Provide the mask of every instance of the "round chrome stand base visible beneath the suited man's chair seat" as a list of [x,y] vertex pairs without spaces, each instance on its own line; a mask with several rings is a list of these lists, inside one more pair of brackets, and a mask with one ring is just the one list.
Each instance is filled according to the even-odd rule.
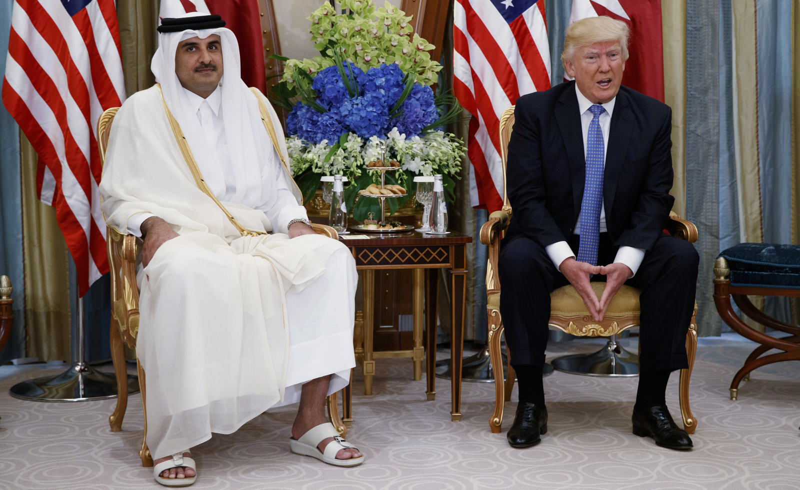
[[605,347],[592,354],[573,354],[550,361],[558,371],[583,376],[624,377],[639,375],[639,357],[622,349],[610,338]]

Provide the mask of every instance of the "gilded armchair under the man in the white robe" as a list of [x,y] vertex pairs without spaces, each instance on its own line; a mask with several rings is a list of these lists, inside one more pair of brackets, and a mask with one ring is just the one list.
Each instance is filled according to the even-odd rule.
[[[111,123],[119,110],[112,107],[103,112],[98,120],[98,149],[100,160],[105,161]],[[336,230],[327,225],[312,223],[314,231],[326,237],[338,240]],[[122,430],[122,419],[128,405],[127,373],[125,365],[124,345],[131,349],[136,348],[136,337],[139,330],[139,291],[136,286],[136,257],[142,252],[142,240],[133,235],[122,233],[117,229],[106,227],[106,248],[111,270],[111,359],[114,362],[114,372],[117,377],[119,396],[114,413],[108,417],[111,432]],[[124,345],[123,345],[124,343]],[[150,449],[147,448],[147,404],[145,397],[145,371],[136,360],[138,370],[139,389],[142,392],[142,407],[145,412],[144,436],[139,457],[142,466],[153,466]],[[341,434],[346,433],[336,405],[336,394],[328,397],[328,411],[331,421]]]

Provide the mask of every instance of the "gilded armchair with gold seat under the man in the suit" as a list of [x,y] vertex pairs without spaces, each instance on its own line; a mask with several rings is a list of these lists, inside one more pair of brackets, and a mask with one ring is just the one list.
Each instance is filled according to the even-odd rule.
[[[494,413],[489,418],[492,432],[500,432],[502,426],[503,403],[510,400],[511,389],[514,387],[514,368],[508,365],[508,376],[502,379],[503,365],[500,352],[500,337],[503,333],[502,318],[500,316],[500,278],[498,277],[498,256],[500,241],[506,233],[511,217],[511,205],[506,193],[506,157],[508,156],[508,143],[514,126],[514,106],[506,109],[500,119],[500,156],[503,170],[503,206],[502,210],[491,213],[489,221],[481,227],[480,240],[488,245],[489,263],[486,266],[486,310],[489,317],[488,344],[492,369],[495,372]],[[670,213],[668,231],[674,237],[694,242],[697,241],[697,228],[690,221],[682,220],[674,213]],[[602,295],[606,287],[605,282],[593,282],[594,293]],[[561,330],[580,337],[610,337],[623,331],[639,326],[639,294],[638,289],[623,285],[611,301],[606,317],[603,321],[595,322],[590,313],[586,311],[582,298],[572,285],[566,285],[550,293],[550,329]],[[689,357],[689,368],[682,369],[680,375],[679,399],[683,428],[693,434],[697,419],[692,416],[689,407],[689,380],[694,365],[694,354],[697,351],[697,326],[695,315],[697,304],[694,305],[689,331],[686,333],[686,354]],[[644,325],[642,328],[647,328]],[[507,347],[507,346],[506,346]],[[513,355],[508,352],[508,358]]]

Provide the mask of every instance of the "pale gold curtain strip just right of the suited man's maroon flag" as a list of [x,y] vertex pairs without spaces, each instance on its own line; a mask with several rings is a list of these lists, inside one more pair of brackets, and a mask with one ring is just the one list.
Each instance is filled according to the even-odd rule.
[[686,217],[686,3],[661,2],[664,102],[672,108],[673,211]]

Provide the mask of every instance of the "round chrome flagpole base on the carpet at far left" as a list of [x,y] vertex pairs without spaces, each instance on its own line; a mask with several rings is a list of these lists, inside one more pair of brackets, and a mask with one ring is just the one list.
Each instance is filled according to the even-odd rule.
[[[139,391],[138,377],[128,375],[128,392]],[[10,395],[31,401],[86,401],[116,398],[117,378],[78,362],[57,376],[14,384]]]

